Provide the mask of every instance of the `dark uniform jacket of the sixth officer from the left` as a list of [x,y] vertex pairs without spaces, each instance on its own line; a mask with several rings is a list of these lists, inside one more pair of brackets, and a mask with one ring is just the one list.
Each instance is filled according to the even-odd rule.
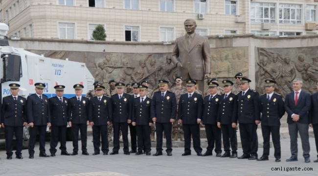
[[131,118],[133,106],[133,97],[127,93],[123,93],[121,99],[118,94],[112,96],[113,107],[113,122],[127,123],[127,120]]

